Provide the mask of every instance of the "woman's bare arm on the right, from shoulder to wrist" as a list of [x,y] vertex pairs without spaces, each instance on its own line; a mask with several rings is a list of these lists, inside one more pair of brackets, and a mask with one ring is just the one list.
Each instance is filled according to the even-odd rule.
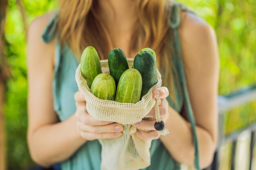
[[[187,87],[197,124],[200,166],[205,168],[213,159],[218,133],[219,66],[216,36],[204,21],[187,13],[180,28],[180,38]],[[186,118],[186,109],[184,111],[182,114]],[[166,127],[170,134],[160,139],[177,161],[193,167],[195,150],[190,123],[171,107],[168,113]]]

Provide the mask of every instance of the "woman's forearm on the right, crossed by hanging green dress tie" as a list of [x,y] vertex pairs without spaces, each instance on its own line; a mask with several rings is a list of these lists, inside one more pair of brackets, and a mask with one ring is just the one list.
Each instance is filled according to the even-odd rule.
[[[168,111],[169,117],[166,120],[166,128],[168,128],[170,133],[166,136],[161,136],[160,139],[174,159],[194,167],[195,148],[191,124],[175,110],[169,109]],[[205,168],[212,161],[215,144],[207,130],[197,126],[196,131],[198,135],[200,166]]]

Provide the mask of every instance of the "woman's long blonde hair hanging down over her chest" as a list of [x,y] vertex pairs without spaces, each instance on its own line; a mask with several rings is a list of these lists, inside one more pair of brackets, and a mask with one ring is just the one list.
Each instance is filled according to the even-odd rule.
[[[130,51],[150,47],[157,54],[157,67],[163,75],[163,85],[173,94],[173,62],[171,58],[170,0],[135,0],[139,18],[133,30]],[[60,0],[58,28],[61,43],[81,56],[86,46],[94,46],[101,60],[114,48],[108,29],[97,14],[97,0]],[[171,95],[173,99],[174,96]]]

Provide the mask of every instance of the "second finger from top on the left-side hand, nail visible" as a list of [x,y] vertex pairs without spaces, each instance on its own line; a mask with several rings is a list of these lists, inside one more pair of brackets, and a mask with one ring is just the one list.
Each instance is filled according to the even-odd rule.
[[77,122],[77,128],[83,132],[92,132],[92,133],[113,133],[121,132],[124,127],[121,124],[113,123],[103,126],[88,126],[82,124],[80,121]]

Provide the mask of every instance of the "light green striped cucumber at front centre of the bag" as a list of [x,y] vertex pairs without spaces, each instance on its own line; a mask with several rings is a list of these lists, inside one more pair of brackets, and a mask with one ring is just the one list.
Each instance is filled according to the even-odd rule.
[[135,68],[129,68],[120,77],[115,101],[121,103],[139,102],[142,78]]

